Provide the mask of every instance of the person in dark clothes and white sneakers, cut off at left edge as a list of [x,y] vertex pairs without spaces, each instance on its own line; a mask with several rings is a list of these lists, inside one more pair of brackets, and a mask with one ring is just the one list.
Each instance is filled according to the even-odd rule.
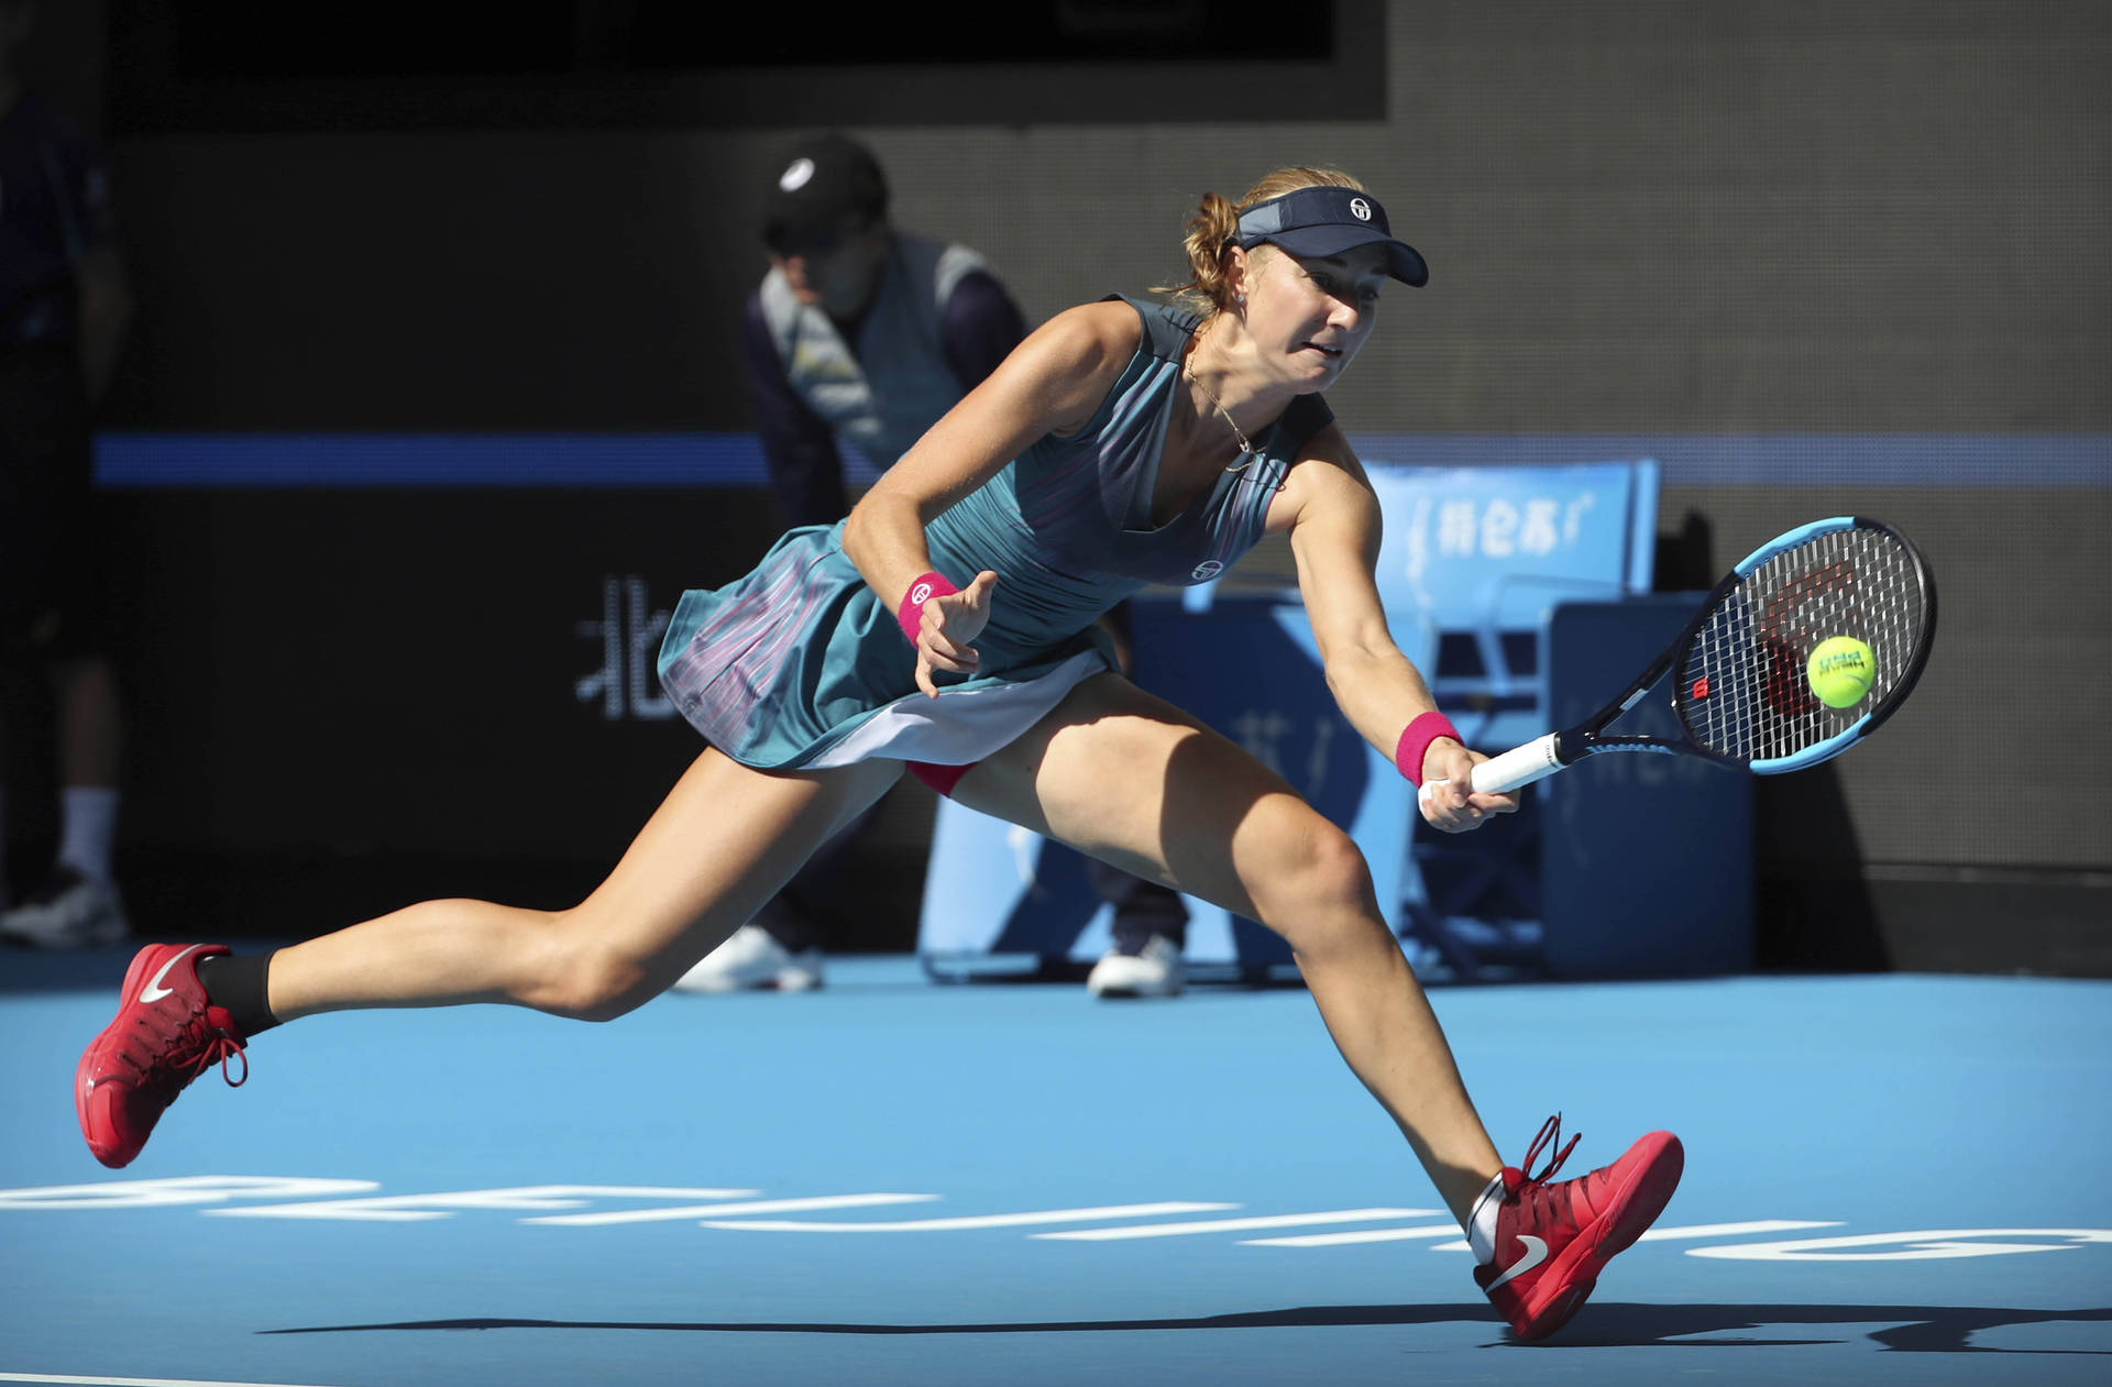
[[36,948],[129,933],[112,872],[122,703],[110,661],[95,403],[131,289],[101,152],[25,91],[15,55],[36,21],[0,0],[0,906],[6,906],[8,730],[53,709],[59,849],[0,910],[0,939]]

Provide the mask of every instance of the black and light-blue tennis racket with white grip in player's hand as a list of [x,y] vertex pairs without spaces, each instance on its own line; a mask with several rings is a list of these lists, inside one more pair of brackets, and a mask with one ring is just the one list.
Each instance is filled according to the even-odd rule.
[[[1816,766],[1899,711],[1935,633],[1937,585],[1905,534],[1854,515],[1802,526],[1728,572],[1624,695],[1476,764],[1474,790],[1502,794],[1607,752],[1700,756],[1753,775]],[[1852,635],[1875,657],[1869,692],[1850,707],[1827,707],[1806,682],[1812,648],[1831,635]],[[1609,733],[1666,671],[1679,735]]]

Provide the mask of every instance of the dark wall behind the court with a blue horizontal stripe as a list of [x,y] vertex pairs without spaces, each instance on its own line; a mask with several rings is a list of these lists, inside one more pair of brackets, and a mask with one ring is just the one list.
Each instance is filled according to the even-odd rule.
[[[739,433],[756,211],[817,125],[1031,319],[1176,274],[1204,190],[1347,167],[1434,268],[1331,395],[1383,460],[1658,456],[1675,585],[1840,511],[1928,547],[1916,701],[1761,792],[1768,956],[2000,967],[2040,920],[2015,965],[2112,967],[2112,6],[1337,0],[1286,51],[1282,11],[1052,4],[1031,46],[934,49],[934,15],[737,57],[644,0],[300,6],[321,44],[44,8],[137,279],[114,433]],[[118,494],[135,910],[291,933],[591,880],[693,749],[650,690],[581,695],[604,587],[650,616],[724,581],[767,496],[294,481]],[[902,792],[853,933],[910,927],[927,821]]]

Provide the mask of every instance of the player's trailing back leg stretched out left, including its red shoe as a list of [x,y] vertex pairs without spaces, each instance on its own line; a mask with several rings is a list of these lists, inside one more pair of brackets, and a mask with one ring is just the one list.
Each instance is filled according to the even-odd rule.
[[[623,1015],[733,933],[900,775],[900,762],[767,775],[705,752],[579,906],[425,901],[279,950],[264,980],[264,1022],[458,1003]],[[177,1094],[241,1053],[247,1037],[232,1003],[199,977],[199,963],[222,954],[224,946],[150,944],[125,973],[118,1013],[74,1077],[80,1132],[103,1165],[131,1163]]]

